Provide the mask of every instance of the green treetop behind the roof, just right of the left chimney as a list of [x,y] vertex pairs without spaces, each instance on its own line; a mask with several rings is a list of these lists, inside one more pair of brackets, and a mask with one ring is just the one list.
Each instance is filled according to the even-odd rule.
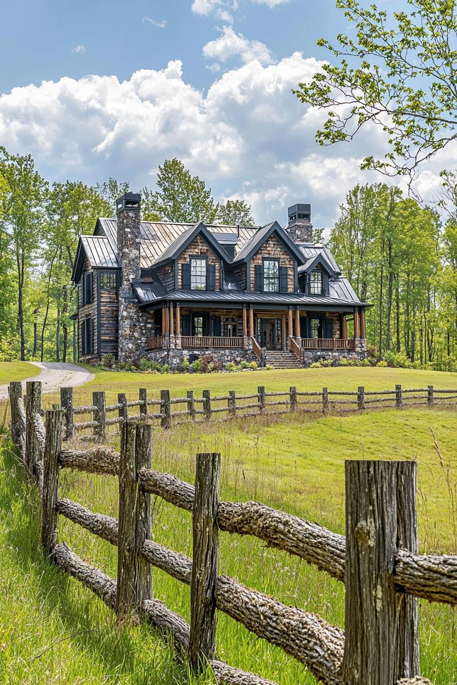
[[149,211],[165,221],[214,223],[218,206],[211,197],[211,189],[198,176],[191,176],[180,160],[165,160],[159,166],[157,186],[159,190],[153,194]]

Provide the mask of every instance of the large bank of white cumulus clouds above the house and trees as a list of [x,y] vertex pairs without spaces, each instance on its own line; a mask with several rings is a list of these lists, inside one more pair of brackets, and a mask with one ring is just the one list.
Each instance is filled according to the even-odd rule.
[[[112,176],[132,189],[153,188],[158,165],[176,156],[216,199],[251,203],[259,223],[284,225],[288,205],[311,202],[314,225],[329,226],[351,186],[379,180],[358,166],[368,150],[384,149],[373,131],[316,146],[323,115],[291,88],[319,66],[300,53],[277,64],[254,60],[218,75],[206,93],[184,79],[180,60],[125,81],[94,75],[13,88],[0,97],[0,145],[32,153],[51,181]],[[437,176],[441,168],[429,171]],[[432,175],[426,184],[432,187]]]

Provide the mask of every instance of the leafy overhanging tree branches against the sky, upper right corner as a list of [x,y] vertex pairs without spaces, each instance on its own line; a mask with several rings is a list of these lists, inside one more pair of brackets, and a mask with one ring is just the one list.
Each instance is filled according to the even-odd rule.
[[362,169],[414,177],[419,164],[457,138],[456,0],[408,0],[410,12],[337,0],[351,27],[336,46],[321,38],[336,64],[323,64],[295,91],[327,111],[319,145],[352,140],[366,125],[387,134],[388,151],[367,155]]

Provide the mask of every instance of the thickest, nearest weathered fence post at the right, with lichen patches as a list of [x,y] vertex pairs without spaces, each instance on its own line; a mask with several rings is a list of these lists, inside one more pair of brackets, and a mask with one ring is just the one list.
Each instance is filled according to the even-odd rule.
[[397,548],[417,551],[415,469],[415,462],[345,464],[343,685],[392,685],[419,673],[417,611],[393,579]]

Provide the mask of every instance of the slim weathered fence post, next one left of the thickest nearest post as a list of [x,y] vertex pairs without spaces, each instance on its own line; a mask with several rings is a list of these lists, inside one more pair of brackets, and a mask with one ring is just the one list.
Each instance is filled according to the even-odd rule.
[[193,564],[190,579],[190,667],[198,671],[216,649],[216,601],[219,573],[219,453],[197,454],[195,497],[192,511]]

